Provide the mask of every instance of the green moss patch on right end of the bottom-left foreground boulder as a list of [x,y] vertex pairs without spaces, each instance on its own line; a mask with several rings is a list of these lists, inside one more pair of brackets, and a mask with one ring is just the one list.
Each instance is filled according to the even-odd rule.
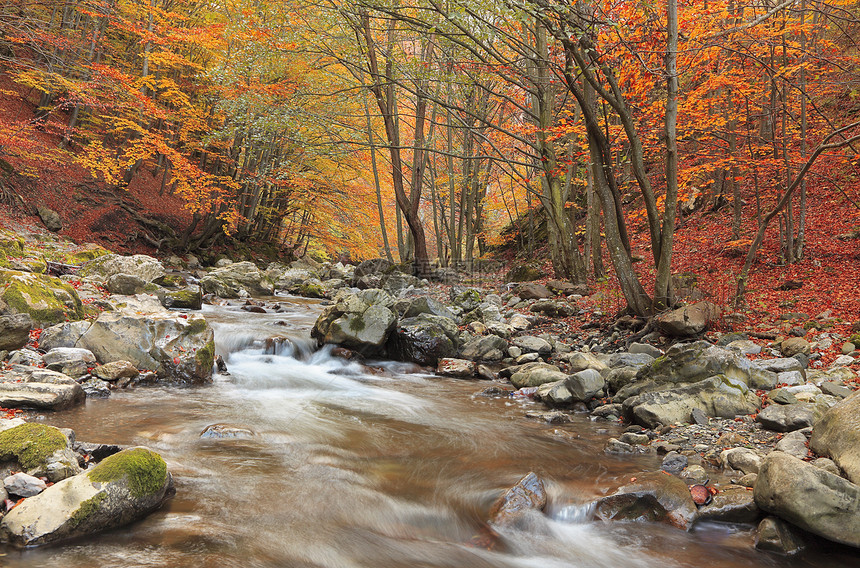
[[102,460],[87,473],[91,481],[108,483],[125,478],[134,497],[157,493],[167,481],[167,464],[155,452],[132,448]]

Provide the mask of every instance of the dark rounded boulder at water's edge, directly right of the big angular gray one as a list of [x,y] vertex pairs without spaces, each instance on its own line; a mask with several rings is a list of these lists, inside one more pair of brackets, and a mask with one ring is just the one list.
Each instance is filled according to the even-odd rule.
[[388,338],[386,351],[399,361],[435,366],[439,359],[457,354],[458,333],[451,319],[425,313],[401,320]]

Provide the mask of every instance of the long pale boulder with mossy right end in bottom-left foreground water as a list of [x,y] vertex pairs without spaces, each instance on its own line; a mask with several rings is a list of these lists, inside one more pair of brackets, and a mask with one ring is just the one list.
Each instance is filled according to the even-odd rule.
[[0,522],[0,539],[35,546],[121,527],[145,517],[172,493],[161,456],[143,447],[123,450],[12,509]]

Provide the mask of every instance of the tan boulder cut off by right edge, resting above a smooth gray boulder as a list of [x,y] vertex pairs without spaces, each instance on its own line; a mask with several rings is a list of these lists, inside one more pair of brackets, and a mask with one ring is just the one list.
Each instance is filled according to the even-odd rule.
[[860,485],[860,391],[830,408],[812,429],[812,450],[829,456]]

